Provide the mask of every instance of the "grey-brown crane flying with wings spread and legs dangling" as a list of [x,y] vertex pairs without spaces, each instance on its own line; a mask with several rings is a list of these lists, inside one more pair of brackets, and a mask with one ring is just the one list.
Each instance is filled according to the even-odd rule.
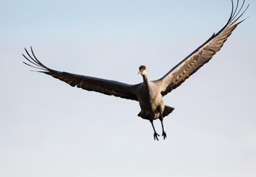
[[249,6],[248,4],[243,10],[244,1],[239,8],[239,0],[237,0],[236,7],[232,1],[232,11],[227,24],[225,24],[220,31],[214,33],[211,38],[207,39],[205,43],[196,48],[194,52],[180,61],[179,64],[174,66],[159,80],[150,81],[148,79],[148,69],[146,66],[140,66],[138,74],[141,74],[143,82],[136,85],[57,71],[42,64],[42,62],[36,58],[32,47],[31,53],[25,48],[27,55],[22,55],[28,62],[23,63],[35,67],[36,69],[40,69],[38,71],[40,73],[45,73],[61,81],[65,81],[72,87],[83,88],[84,90],[99,92],[108,96],[116,96],[138,101],[141,108],[138,116],[150,121],[154,130],[154,139],[158,141],[159,134],[156,132],[153,121],[156,119],[161,121],[162,136],[163,139],[165,139],[166,132],[164,131],[163,118],[168,116],[174,110],[174,108],[164,105],[163,97],[173,89],[179,87],[179,85],[188,79],[189,76],[195,73],[200,67],[204,66],[205,63],[209,62],[212,56],[221,49],[232,31],[236,29],[237,25],[245,20],[237,22]]

